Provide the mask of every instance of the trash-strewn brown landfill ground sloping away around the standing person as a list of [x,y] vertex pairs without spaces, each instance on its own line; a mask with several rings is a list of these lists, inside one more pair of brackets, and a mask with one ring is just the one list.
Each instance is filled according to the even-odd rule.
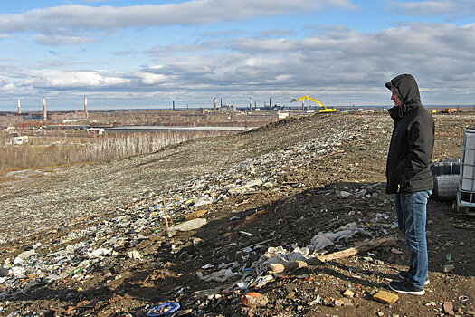
[[[475,116],[434,119],[434,160],[460,158]],[[385,113],[314,115],[132,159],[10,172],[0,315],[171,316],[150,312],[163,303],[179,303],[176,316],[475,315],[473,218],[434,197],[423,296],[375,300],[408,263],[402,240],[269,269],[400,237],[384,193],[391,130]]]

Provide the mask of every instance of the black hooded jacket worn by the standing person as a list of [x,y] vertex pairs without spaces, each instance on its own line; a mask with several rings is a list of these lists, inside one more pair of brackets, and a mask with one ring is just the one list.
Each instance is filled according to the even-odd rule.
[[423,107],[419,87],[412,75],[404,74],[386,82],[397,92],[401,106],[388,112],[394,129],[386,164],[386,193],[413,193],[433,188],[431,174],[434,122]]

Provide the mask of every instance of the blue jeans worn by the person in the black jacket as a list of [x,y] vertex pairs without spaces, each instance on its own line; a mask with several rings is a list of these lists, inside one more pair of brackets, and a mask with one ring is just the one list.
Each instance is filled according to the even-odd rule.
[[423,289],[428,274],[425,223],[427,200],[431,194],[432,190],[394,194],[397,225],[405,236],[411,255],[408,282],[419,289]]

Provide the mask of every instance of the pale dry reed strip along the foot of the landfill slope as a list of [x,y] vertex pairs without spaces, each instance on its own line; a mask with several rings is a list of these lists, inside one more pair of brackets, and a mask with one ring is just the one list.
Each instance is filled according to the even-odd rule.
[[[213,133],[218,134],[222,133]],[[194,131],[112,134],[98,138],[30,137],[30,143],[22,146],[0,146],[0,170],[11,172],[24,168],[51,169],[72,164],[124,159],[206,136],[210,134]]]

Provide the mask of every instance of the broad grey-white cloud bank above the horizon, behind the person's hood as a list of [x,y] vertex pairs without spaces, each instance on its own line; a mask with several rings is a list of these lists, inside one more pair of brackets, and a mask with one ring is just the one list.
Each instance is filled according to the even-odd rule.
[[423,90],[424,103],[450,104],[455,99],[472,104],[474,38],[475,24],[404,24],[375,33],[338,26],[301,39],[241,37],[215,43],[199,54],[190,54],[186,45],[164,46],[168,54],[155,47],[148,52],[157,58],[155,64],[128,73],[55,71],[52,65],[42,72],[2,70],[0,76],[15,73],[16,81],[28,78],[15,82],[22,89],[85,95],[104,91],[105,99],[140,95],[207,102],[223,95],[288,102],[310,94],[325,104],[390,105],[384,83],[409,72]]

